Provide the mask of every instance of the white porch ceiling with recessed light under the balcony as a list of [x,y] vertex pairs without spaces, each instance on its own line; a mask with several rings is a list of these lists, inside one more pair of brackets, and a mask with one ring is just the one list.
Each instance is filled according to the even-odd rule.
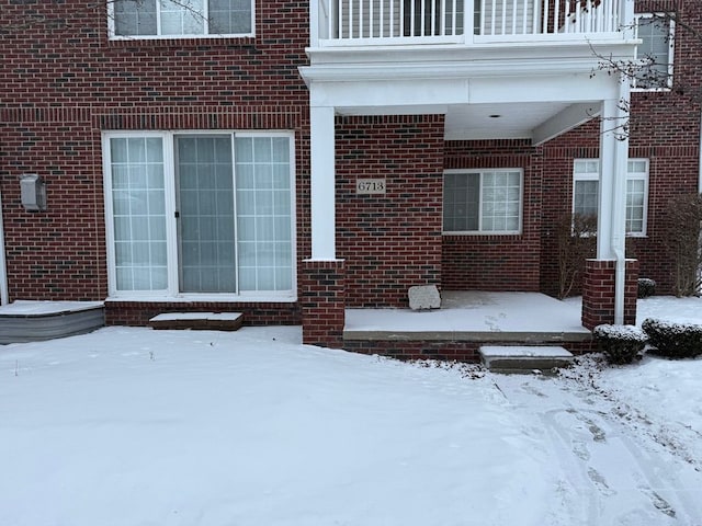
[[[519,88],[517,88],[519,89]],[[446,140],[523,138],[541,144],[599,113],[596,102],[514,102],[448,106]]]

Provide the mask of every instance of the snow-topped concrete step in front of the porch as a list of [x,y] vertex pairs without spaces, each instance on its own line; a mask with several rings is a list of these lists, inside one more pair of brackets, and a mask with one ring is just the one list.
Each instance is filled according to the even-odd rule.
[[531,373],[566,367],[573,354],[555,345],[484,345],[478,350],[480,361],[494,373]]

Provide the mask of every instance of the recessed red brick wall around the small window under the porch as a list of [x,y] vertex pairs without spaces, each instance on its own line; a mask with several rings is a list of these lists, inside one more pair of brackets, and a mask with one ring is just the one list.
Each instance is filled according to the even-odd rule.
[[444,236],[442,286],[450,290],[539,290],[542,153],[528,140],[446,142],[445,169],[523,171],[522,232]]

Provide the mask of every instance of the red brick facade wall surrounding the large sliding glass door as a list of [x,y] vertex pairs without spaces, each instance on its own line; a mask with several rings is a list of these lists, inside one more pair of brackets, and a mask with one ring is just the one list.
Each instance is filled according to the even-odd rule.
[[[0,191],[10,299],[106,296],[103,130],[294,130],[297,247],[308,252],[308,92],[297,68],[307,64],[309,5],[256,3],[254,37],[109,41],[103,2],[0,0],[7,30]],[[44,213],[20,205],[18,176],[25,172],[46,180]],[[271,316],[299,320],[286,309]],[[148,312],[133,306],[111,319],[143,321]]]

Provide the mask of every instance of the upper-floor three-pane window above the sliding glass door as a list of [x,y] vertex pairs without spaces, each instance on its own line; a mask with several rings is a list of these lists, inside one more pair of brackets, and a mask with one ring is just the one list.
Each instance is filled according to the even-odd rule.
[[116,38],[252,34],[251,0],[114,0],[107,5]]

